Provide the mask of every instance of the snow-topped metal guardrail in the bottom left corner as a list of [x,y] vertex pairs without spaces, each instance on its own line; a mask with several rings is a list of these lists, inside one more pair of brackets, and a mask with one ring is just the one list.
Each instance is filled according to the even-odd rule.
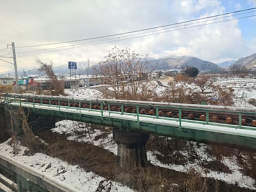
[[80,190],[0,154],[0,191],[79,192]]

